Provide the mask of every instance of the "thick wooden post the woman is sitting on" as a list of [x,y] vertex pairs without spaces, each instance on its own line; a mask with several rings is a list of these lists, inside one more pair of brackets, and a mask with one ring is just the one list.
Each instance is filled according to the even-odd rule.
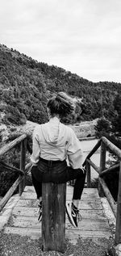
[[42,250],[65,252],[66,184],[42,184]]

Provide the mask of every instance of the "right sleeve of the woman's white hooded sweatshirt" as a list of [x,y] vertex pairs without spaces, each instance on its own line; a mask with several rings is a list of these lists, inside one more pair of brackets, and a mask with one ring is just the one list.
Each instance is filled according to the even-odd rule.
[[77,136],[75,132],[73,132],[73,129],[70,129],[69,133],[67,155],[69,159],[69,165],[73,169],[82,168],[83,152],[81,149],[81,142],[77,139]]

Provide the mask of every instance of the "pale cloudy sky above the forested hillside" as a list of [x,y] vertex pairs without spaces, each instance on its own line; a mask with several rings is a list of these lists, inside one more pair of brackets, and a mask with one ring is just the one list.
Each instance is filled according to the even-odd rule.
[[120,0],[0,0],[0,44],[92,82],[121,82]]

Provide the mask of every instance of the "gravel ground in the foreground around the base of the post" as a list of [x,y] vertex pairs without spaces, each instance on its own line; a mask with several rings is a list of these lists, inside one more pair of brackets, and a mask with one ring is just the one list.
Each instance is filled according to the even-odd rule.
[[[66,241],[65,253],[55,251],[43,252],[41,240],[31,240],[14,234],[0,233],[0,256],[115,256],[115,246],[112,239],[97,238],[81,239],[73,246]],[[103,245],[103,246],[102,246]]]

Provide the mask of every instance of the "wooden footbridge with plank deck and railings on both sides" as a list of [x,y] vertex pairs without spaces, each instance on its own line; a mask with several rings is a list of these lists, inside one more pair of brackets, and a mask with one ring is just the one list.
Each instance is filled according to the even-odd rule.
[[[6,195],[0,202],[0,227],[4,233],[15,233],[19,235],[27,235],[31,238],[39,238],[41,236],[41,224],[38,222],[38,202],[33,187],[24,186],[25,178],[28,173],[28,168],[31,164],[26,165],[26,151],[27,149],[31,153],[31,149],[27,144],[27,136],[22,135],[15,141],[10,142],[0,149],[0,157],[7,153],[10,149],[13,149],[16,145],[21,145],[21,157],[20,157],[20,168],[17,169],[14,166],[0,162],[0,170],[13,170],[19,172],[19,178],[15,181],[10,190],[7,191]],[[90,157],[95,151],[101,147],[100,150],[100,166],[95,166],[91,162]],[[101,197],[105,195],[109,204],[111,205],[112,211],[116,218],[115,226],[115,244],[121,243],[121,167],[119,175],[119,195],[118,202],[115,204],[112,198],[111,192],[106,183],[104,182],[103,176],[111,173],[115,170],[115,166],[111,166],[106,169],[106,149],[111,149],[121,159],[121,151],[105,137],[102,137],[90,154],[86,157],[84,166],[87,170],[87,187],[84,188],[81,202],[79,204],[82,220],[79,222],[77,228],[69,223],[66,217],[65,221],[65,237],[69,238],[69,241],[76,243],[77,238],[82,237],[106,237],[107,239],[112,236],[108,220],[106,219],[104,209],[102,207]],[[98,172],[98,189],[91,188],[91,174],[90,166],[93,166],[94,170]],[[116,165],[117,166],[117,165]],[[118,164],[120,166],[120,164]],[[19,197],[15,198],[14,207],[10,206],[11,195],[13,195],[16,188],[19,187]],[[71,201],[73,195],[73,187],[67,185],[66,200]],[[12,211],[10,210],[12,208]],[[10,212],[9,221],[3,226],[4,221],[7,219],[7,212]]]

